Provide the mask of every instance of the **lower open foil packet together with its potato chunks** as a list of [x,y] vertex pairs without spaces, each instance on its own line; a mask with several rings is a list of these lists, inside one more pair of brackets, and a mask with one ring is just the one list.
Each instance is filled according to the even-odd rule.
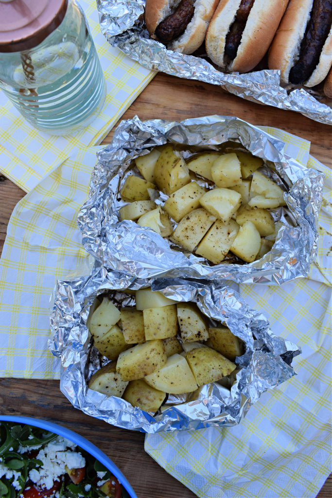
[[98,261],[89,275],[58,280],[50,323],[70,402],[147,433],[238,424],[263,392],[295,375],[301,353],[230,287],[133,279]]

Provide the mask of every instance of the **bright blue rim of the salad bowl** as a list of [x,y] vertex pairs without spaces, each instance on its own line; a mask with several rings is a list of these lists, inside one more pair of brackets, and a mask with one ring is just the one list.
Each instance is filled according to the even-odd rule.
[[70,429],[66,429],[66,427],[62,427],[61,425],[53,424],[52,422],[48,422],[47,420],[40,420],[38,418],[30,418],[30,417],[19,417],[14,415],[0,415],[0,421],[4,422],[14,422],[17,424],[28,424],[33,425],[34,427],[39,427],[41,429],[46,429],[47,431],[54,432],[58,434],[58,436],[62,436],[66,439],[69,439],[77,446],[87,451],[95,457],[101,464],[103,464],[112,474],[116,477],[116,479],[121,483],[123,488],[129,493],[130,498],[137,498],[136,493],[122,474],[122,472],[116,467],[116,465],[111,461],[109,457],[105,455],[97,446],[90,443],[87,439],[76,434],[76,432],[71,431]]

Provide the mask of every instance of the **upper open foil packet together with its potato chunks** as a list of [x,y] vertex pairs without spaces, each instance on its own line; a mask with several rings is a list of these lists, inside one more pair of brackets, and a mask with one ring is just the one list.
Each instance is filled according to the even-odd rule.
[[78,223],[106,268],[268,284],[308,275],[324,175],[262,129],[225,116],[135,117],[97,156]]

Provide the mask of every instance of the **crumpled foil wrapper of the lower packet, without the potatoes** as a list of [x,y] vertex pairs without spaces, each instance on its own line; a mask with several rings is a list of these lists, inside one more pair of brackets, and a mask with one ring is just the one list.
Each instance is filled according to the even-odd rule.
[[[169,395],[156,414],[87,387],[91,375],[109,362],[93,346],[87,327],[96,297],[107,293],[115,305],[131,306],[134,296],[123,291],[150,286],[175,301],[197,303],[211,324],[222,322],[245,345],[233,373],[192,393]],[[147,433],[238,424],[261,393],[295,375],[291,363],[301,353],[275,336],[266,318],[229,287],[181,279],[135,280],[108,272],[98,261],[90,275],[57,281],[50,323],[48,346],[61,359],[60,389],[70,402],[112,425]]]

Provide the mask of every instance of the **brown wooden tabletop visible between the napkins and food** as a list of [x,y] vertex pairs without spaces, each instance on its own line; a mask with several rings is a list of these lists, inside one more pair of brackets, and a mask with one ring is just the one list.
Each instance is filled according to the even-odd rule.
[[[302,136],[311,141],[311,154],[332,167],[330,126],[297,113],[244,101],[201,82],[158,74],[122,119],[137,115],[141,120],[180,121],[213,114],[237,116],[251,124],[275,126]],[[111,137],[112,131],[104,143],[109,143]],[[10,214],[24,192],[4,177],[0,182],[1,250]],[[76,410],[60,392],[56,380],[0,379],[0,414],[38,416],[86,436],[114,461],[139,498],[196,496],[144,452],[144,434],[112,427]],[[330,498],[331,485],[330,476],[318,497]]]

